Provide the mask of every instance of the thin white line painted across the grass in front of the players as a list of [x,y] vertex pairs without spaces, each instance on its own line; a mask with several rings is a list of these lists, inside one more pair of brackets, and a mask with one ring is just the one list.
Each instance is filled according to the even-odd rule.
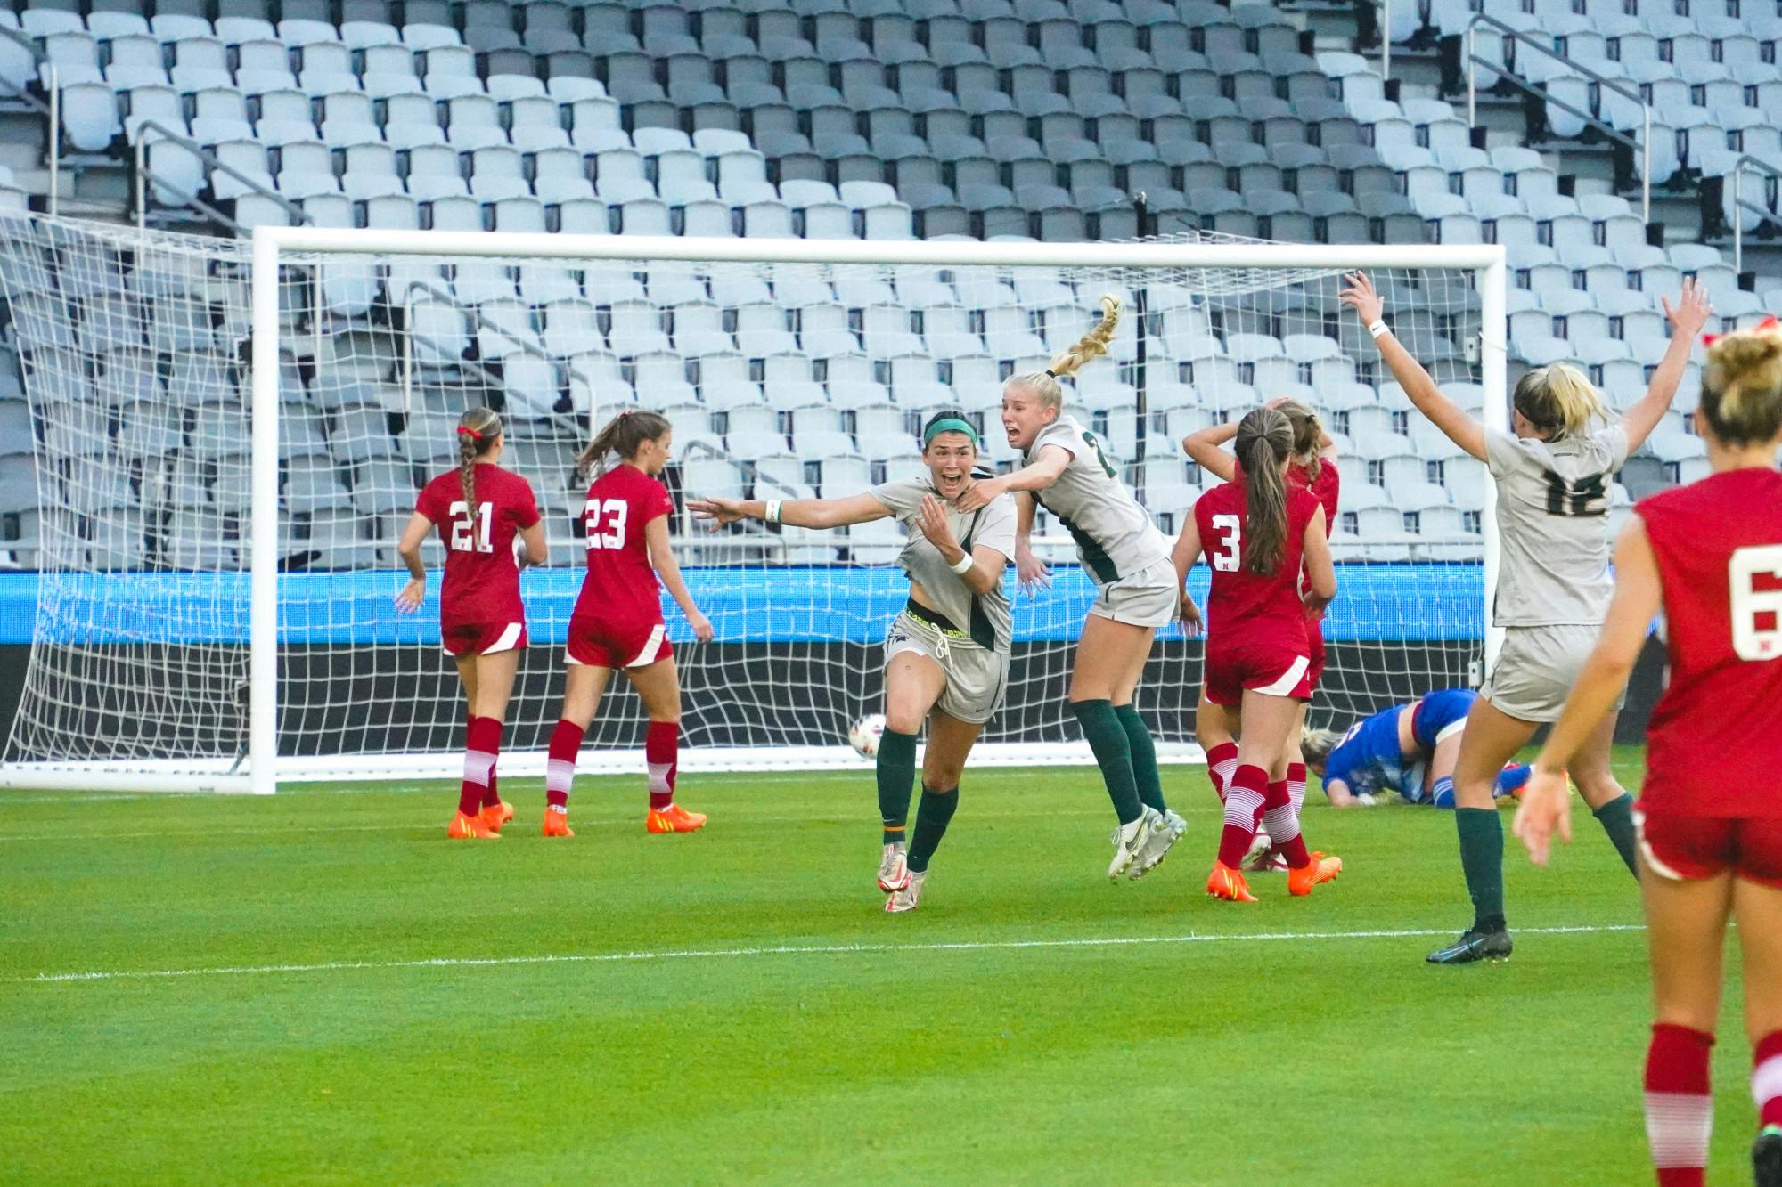
[[[1598,923],[1579,927],[1524,927],[1520,936],[1591,936],[1641,932],[1643,923]],[[670,948],[661,952],[563,952],[511,957],[433,957],[428,961],[326,961],[319,964],[237,964],[217,968],[93,970],[73,973],[37,973],[14,977],[7,984],[46,986],[91,980],[169,980],[180,977],[266,977],[289,973],[344,973],[355,970],[408,968],[510,968],[522,964],[643,964],[658,961],[723,961],[772,955],[859,955],[884,952],[1009,952],[1028,948],[1135,948],[1149,945],[1244,945],[1315,939],[1418,939],[1452,936],[1452,929],[1401,929],[1363,932],[1238,932],[1189,936],[1112,936],[1091,939],[968,939],[957,943],[859,943],[859,945],[775,945],[763,948]]]

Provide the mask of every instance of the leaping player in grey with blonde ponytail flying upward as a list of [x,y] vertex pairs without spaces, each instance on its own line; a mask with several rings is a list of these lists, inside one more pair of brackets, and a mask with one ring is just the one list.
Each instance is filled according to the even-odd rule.
[[1076,542],[1076,558],[1096,583],[1083,633],[1076,640],[1071,711],[1096,756],[1119,827],[1108,877],[1144,877],[1155,870],[1187,823],[1164,804],[1157,745],[1133,706],[1144,661],[1158,627],[1176,617],[1176,574],[1169,544],[1119,479],[1094,433],[1064,415],[1059,380],[1105,355],[1119,324],[1119,299],[1101,298],[1101,321],[1044,371],[1003,385],[1003,430],[1021,451],[1021,469],[977,483],[960,510],[989,506],[1016,494],[1016,570],[1023,585],[1044,585],[1046,567],[1028,540],[1034,508],[1057,515]]

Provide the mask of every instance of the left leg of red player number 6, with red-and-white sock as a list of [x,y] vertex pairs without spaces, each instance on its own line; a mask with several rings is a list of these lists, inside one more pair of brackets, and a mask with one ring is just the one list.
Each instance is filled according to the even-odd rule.
[[[1689,1171],[1707,1166],[1714,1119],[1709,1052],[1720,1014],[1732,873],[1679,880],[1648,868],[1639,875],[1639,889],[1655,1005],[1645,1069],[1647,1137],[1657,1167],[1670,1169],[1672,1178],[1691,1178]],[[1743,932],[1741,925],[1741,939]]]

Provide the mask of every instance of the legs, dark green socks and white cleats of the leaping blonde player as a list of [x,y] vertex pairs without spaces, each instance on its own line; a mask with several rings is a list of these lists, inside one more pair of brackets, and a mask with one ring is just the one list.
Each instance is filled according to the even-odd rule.
[[[1071,711],[1083,727],[1083,740],[1096,756],[1101,781],[1119,827],[1114,829],[1114,861],[1108,879],[1124,875],[1155,832],[1164,823],[1164,793],[1157,779],[1155,750],[1146,759],[1133,754],[1133,738],[1144,731],[1142,722],[1133,731],[1128,720],[1135,716],[1132,695],[1139,674],[1151,654],[1151,627],[1116,622],[1101,615],[1083,620],[1083,634],[1076,642],[1076,667],[1071,674]],[[1121,709],[1116,709],[1121,706]],[[1135,761],[1137,759],[1137,761]],[[1140,770],[1149,770],[1140,779]],[[1148,802],[1155,800],[1155,802]],[[1180,820],[1180,818],[1178,818]]]

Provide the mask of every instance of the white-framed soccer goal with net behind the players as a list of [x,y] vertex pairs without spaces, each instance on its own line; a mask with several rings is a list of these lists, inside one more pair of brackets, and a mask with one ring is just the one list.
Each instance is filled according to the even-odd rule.
[[[1114,356],[1083,369],[1067,412],[1165,533],[1212,481],[1181,453],[1187,431],[1296,396],[1336,435],[1342,594],[1315,720],[1474,683],[1492,488],[1411,415],[1338,308],[1356,267],[1445,389],[1502,422],[1492,246],[326,228],[258,228],[249,244],[9,217],[0,285],[39,506],[0,540],[27,570],[0,572],[0,590],[34,599],[0,782],[273,791],[453,774],[462,693],[437,602],[392,604],[394,545],[472,405],[501,412],[506,465],[547,519],[551,563],[522,576],[531,649],[503,752],[504,774],[542,772],[583,574],[574,456],[593,426],[627,406],[666,413],[677,504],[916,474],[916,428],[950,406],[1007,467],[1003,380],[1087,330],[1101,292],[1124,307]],[[845,736],[880,704],[880,642],[905,597],[896,524],[711,535],[683,512],[674,531],[716,627],[693,643],[670,608],[684,766],[859,763]],[[1055,581],[1016,599],[1009,702],[973,761],[1087,759],[1066,692],[1092,586],[1044,515],[1037,535]],[[437,599],[437,545],[428,560]],[[1205,567],[1196,581],[1205,594]],[[1146,672],[1139,704],[1167,757],[1199,754],[1199,656],[1171,629]],[[617,686],[588,747],[620,756],[642,724]]]

